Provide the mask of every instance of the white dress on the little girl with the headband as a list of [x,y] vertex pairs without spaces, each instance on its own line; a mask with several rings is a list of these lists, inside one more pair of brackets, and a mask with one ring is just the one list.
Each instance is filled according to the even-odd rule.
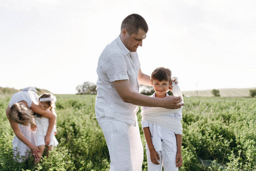
[[[48,111],[50,111],[50,109],[48,109]],[[54,113],[55,116],[56,113]],[[36,143],[37,145],[45,145],[45,141],[44,141],[44,137],[46,136],[47,130],[48,130],[48,126],[49,126],[49,119],[47,117],[40,117],[38,115],[35,115],[35,124],[37,127],[36,130]],[[54,131],[56,130],[55,125],[54,125],[54,129],[52,129],[51,132],[51,140],[50,140],[50,144],[48,146],[54,147],[57,146],[59,143],[56,139],[56,137],[54,136]]]

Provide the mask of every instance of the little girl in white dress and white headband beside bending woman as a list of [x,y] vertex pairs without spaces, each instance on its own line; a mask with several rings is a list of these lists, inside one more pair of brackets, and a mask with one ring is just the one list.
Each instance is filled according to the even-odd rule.
[[[43,93],[39,97],[39,106],[47,111],[51,111],[54,113],[55,117],[57,116],[55,113],[55,101],[56,97],[52,95],[51,93]],[[42,158],[42,154],[44,152],[44,149],[46,149],[46,156],[48,157],[48,150],[52,150],[52,146],[57,146],[59,143],[55,138],[56,135],[56,120],[54,124],[54,129],[51,131],[50,137],[47,137],[47,130],[49,129],[49,123],[50,120],[47,117],[43,117],[38,115],[37,113],[34,113],[35,116],[35,123],[36,123],[36,143],[39,148],[39,160],[36,161],[39,162]],[[50,143],[46,144],[46,139],[50,138]]]

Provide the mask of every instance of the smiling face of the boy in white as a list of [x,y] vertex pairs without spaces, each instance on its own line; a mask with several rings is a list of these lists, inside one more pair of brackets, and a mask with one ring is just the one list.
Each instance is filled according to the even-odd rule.
[[156,92],[156,97],[163,98],[166,96],[166,92],[169,90],[170,82],[168,80],[151,80],[151,84]]

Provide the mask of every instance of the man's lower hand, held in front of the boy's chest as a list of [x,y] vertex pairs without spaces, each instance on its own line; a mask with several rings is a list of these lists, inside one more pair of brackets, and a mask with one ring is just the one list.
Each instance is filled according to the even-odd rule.
[[166,96],[163,98],[164,100],[164,108],[167,109],[178,109],[181,108],[184,103],[181,103],[181,97],[174,97],[174,96]]

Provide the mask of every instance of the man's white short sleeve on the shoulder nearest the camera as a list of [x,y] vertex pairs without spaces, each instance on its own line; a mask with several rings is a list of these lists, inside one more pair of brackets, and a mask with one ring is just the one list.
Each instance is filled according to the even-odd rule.
[[110,82],[129,80],[125,58],[126,56],[122,54],[111,54],[107,56],[102,69],[107,74]]

